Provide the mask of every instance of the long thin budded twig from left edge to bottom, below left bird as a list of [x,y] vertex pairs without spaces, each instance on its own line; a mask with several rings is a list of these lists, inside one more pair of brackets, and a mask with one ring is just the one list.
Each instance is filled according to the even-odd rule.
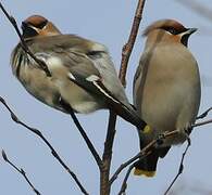
[[55,159],[58,159],[58,161],[62,165],[62,167],[70,173],[70,176],[74,179],[74,181],[76,182],[77,186],[80,188],[82,193],[85,195],[88,195],[87,191],[85,190],[85,187],[82,185],[82,183],[79,182],[79,180],[77,179],[76,174],[71,171],[71,169],[68,168],[68,166],[61,159],[61,157],[59,156],[59,154],[57,153],[57,151],[53,148],[53,146],[50,144],[50,142],[42,135],[42,133],[35,128],[32,128],[29,126],[27,126],[26,123],[24,123],[23,121],[21,121],[17,116],[13,113],[13,110],[9,107],[9,105],[7,104],[7,102],[4,101],[4,99],[2,99],[0,96],[0,102],[5,106],[5,108],[9,110],[9,113],[11,114],[11,118],[13,119],[13,121],[15,121],[16,123],[20,123],[21,126],[25,127],[26,129],[28,129],[30,132],[35,133],[36,135],[38,135],[43,142],[51,150],[51,154],[55,157]]

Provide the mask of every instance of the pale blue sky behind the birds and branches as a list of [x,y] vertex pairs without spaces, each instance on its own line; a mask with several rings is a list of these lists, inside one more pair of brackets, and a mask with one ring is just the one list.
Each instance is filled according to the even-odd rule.
[[[201,2],[212,9],[210,0],[201,0]],[[127,40],[137,0],[20,0],[18,2],[4,0],[2,3],[15,16],[18,25],[32,14],[41,14],[54,22],[65,34],[77,34],[105,44],[111,52],[116,69],[119,69],[122,46]],[[71,169],[78,176],[88,192],[98,194],[98,168],[70,117],[35,100],[12,76],[9,65],[10,53],[18,39],[11,24],[2,13],[0,14],[0,95],[5,98],[20,119],[42,131],[70,165]],[[133,75],[145,41],[140,36],[141,30],[159,18],[175,18],[187,27],[199,28],[199,31],[190,37],[189,49],[197,57],[202,77],[200,106],[200,112],[202,112],[212,105],[212,34],[205,35],[203,30],[203,27],[208,27],[212,32],[212,22],[191,12],[174,0],[151,0],[146,2],[139,36],[129,62],[127,95],[132,100]],[[12,122],[10,115],[2,105],[0,105],[0,150],[4,148],[11,160],[24,168],[41,194],[80,194],[74,181],[51,156],[49,148],[40,139]],[[108,112],[100,110],[89,116],[78,115],[78,118],[98,151],[101,152],[105,136]],[[112,172],[121,162],[138,152],[135,128],[119,119],[116,129]],[[211,126],[197,128],[192,132],[191,147],[185,160],[185,171],[177,182],[178,185],[185,184],[186,187],[200,185],[203,188],[212,190],[211,140]],[[154,179],[137,178],[132,174],[128,181],[127,194],[162,194],[177,172],[183,150],[184,146],[175,146],[164,159],[159,161]],[[115,181],[112,194],[116,194],[120,188],[123,176],[121,174],[119,180]],[[34,194],[23,178],[9,167],[2,160],[2,157],[0,157],[0,194],[3,195]],[[182,194],[195,193],[186,190]]]

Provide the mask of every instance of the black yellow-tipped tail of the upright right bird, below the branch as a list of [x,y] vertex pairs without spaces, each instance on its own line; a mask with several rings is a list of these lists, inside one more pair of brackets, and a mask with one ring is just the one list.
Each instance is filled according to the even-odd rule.
[[152,178],[155,176],[159,157],[163,158],[170,150],[167,147],[154,148],[151,154],[135,162],[135,176]]

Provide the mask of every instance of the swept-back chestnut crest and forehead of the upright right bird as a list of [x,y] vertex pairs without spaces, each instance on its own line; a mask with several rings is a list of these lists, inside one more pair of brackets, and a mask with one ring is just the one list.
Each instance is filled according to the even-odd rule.
[[186,30],[186,28],[177,21],[162,20],[162,21],[157,21],[153,24],[151,24],[150,26],[148,26],[144,31],[144,36],[147,36],[153,29],[169,28],[169,27],[175,28],[177,31],[185,31]]

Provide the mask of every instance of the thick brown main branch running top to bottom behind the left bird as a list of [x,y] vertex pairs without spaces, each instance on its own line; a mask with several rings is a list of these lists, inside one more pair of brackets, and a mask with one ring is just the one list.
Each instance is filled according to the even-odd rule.
[[[138,34],[138,28],[141,21],[145,2],[146,0],[138,0],[130,35],[127,43],[123,47],[123,51],[122,51],[122,62],[121,62],[119,77],[124,87],[126,86],[125,77],[126,77],[127,64]],[[104,142],[104,152],[102,157],[103,166],[100,169],[100,194],[101,195],[110,194],[110,188],[112,184],[109,181],[109,176],[110,176],[110,166],[112,159],[112,147],[113,147],[113,141],[115,135],[115,123],[116,123],[116,115],[113,112],[110,112],[108,133],[107,133],[107,140]]]

